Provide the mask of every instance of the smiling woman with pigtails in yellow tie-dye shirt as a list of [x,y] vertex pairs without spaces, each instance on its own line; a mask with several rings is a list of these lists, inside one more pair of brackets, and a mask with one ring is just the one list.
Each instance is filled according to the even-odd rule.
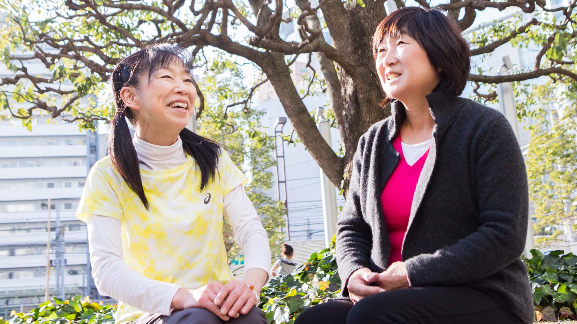
[[[116,323],[268,323],[256,305],[271,251],[247,179],[218,143],[185,128],[197,88],[190,54],[148,46],[110,82],[110,155],[92,167],[76,216],[88,224],[96,288],[119,300]],[[227,265],[223,217],[245,251],[242,282]]]

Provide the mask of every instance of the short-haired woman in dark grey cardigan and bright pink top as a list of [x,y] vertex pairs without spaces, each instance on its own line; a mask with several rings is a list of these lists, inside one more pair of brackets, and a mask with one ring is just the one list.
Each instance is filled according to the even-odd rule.
[[458,97],[470,69],[458,27],[405,7],[372,47],[391,117],[359,140],[338,223],[349,299],[297,323],[532,323],[523,156],[499,111]]

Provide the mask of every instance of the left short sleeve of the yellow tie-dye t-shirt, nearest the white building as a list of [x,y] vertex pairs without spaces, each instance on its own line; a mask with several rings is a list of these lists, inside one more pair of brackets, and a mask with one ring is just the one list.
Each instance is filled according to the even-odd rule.
[[95,164],[88,174],[76,217],[87,223],[90,214],[108,216],[123,221],[123,210],[110,184],[106,171]]

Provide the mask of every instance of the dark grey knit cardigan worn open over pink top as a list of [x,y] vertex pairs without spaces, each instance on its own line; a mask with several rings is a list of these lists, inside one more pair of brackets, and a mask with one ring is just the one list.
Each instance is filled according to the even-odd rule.
[[[515,134],[499,111],[473,100],[440,92],[426,99],[436,125],[403,241],[409,281],[488,291],[533,323],[520,260],[529,218],[527,174]],[[358,142],[336,239],[345,297],[355,270],[387,268],[391,243],[380,196],[400,160],[392,142],[404,118],[403,104],[395,101],[392,115]]]

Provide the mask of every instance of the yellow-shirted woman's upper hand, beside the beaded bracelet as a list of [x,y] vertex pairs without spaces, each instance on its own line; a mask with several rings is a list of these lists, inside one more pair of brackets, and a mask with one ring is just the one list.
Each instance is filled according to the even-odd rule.
[[250,289],[245,282],[236,280],[228,282],[220,290],[215,298],[215,304],[220,306],[220,314],[227,314],[230,317],[238,318],[240,314],[246,315],[258,304],[254,291],[260,291],[260,288]]

